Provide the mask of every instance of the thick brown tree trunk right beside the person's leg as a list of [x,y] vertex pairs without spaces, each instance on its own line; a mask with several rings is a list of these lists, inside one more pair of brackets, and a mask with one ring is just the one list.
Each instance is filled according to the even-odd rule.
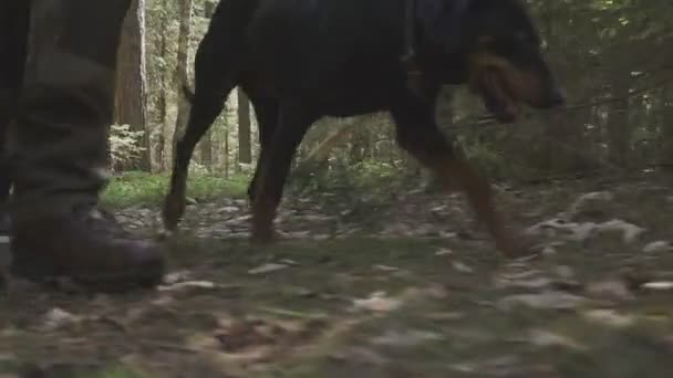
[[133,0],[122,29],[116,74],[115,123],[143,132],[139,159],[125,168],[151,170],[149,133],[146,128],[145,0]]

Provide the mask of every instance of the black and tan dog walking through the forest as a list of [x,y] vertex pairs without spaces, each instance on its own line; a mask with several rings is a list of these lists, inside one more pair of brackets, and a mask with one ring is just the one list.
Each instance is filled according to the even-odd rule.
[[522,103],[561,104],[518,1],[221,0],[195,75],[164,209],[168,230],[185,211],[194,147],[240,85],[260,126],[261,156],[248,191],[253,240],[272,239],[291,160],[315,120],[387,111],[398,145],[447,187],[458,185],[503,252],[524,252],[495,211],[488,183],[453,154],[434,117],[444,84],[469,85],[501,122],[512,122]]

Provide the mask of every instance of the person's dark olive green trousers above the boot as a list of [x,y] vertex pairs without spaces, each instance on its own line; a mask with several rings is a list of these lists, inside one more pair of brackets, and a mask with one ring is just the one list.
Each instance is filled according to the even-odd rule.
[[[130,2],[0,0],[0,93],[18,103],[9,127],[8,115],[0,118],[15,227],[96,203],[106,182],[116,51]],[[22,24],[28,29],[3,30]],[[24,56],[17,39],[27,42]],[[6,64],[6,56],[24,65]]]

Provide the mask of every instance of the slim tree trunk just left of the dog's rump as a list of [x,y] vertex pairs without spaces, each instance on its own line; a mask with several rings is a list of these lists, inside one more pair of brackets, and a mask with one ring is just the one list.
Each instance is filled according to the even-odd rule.
[[182,87],[184,84],[189,83],[189,36],[191,34],[191,11],[194,8],[194,0],[180,0],[179,4],[179,35],[177,40],[177,65],[175,70],[174,85],[177,87],[178,105],[177,105],[177,118],[175,122],[175,132],[173,135],[173,154],[175,155],[176,143],[185,132],[187,127],[187,120],[189,117],[189,102],[182,94]]

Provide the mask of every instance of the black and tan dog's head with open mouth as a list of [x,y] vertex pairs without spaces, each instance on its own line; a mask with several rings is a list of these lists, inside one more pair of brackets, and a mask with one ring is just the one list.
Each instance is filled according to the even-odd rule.
[[429,40],[463,60],[464,82],[500,122],[516,119],[521,103],[563,103],[541,52],[540,36],[518,0],[416,0]]

